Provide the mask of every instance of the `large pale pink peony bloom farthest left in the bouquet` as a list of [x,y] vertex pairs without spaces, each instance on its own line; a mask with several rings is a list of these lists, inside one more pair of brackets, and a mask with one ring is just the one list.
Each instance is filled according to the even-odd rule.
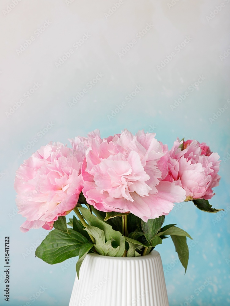
[[79,156],[61,143],[50,142],[25,160],[16,172],[18,213],[27,220],[21,231],[53,228],[58,216],[77,204],[83,188]]

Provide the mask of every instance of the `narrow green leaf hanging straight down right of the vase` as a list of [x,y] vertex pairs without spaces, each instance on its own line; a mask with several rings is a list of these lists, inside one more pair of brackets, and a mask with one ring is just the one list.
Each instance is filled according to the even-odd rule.
[[188,266],[188,257],[189,251],[187,246],[187,238],[185,236],[174,236],[171,235],[172,241],[175,245],[176,252],[178,253],[178,257],[182,266],[185,268],[185,273]]

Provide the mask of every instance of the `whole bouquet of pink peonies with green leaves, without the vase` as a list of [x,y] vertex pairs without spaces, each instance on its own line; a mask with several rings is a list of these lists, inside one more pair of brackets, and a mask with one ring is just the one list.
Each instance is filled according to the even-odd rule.
[[[176,224],[162,227],[164,216],[182,201],[221,210],[208,202],[220,181],[219,155],[196,140],[177,139],[168,150],[155,133],[127,129],[104,139],[95,130],[70,143],[41,147],[16,173],[21,231],[54,227],[36,256],[50,264],[79,256],[79,275],[87,253],[145,256],[171,236],[186,271],[192,238]],[[77,218],[66,223],[72,210]]]

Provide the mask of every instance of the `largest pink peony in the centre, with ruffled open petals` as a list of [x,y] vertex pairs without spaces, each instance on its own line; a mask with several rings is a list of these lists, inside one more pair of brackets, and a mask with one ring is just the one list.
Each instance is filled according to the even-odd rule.
[[100,211],[131,212],[147,222],[168,215],[185,191],[167,176],[167,155],[155,134],[128,130],[93,139],[82,164],[83,194]]

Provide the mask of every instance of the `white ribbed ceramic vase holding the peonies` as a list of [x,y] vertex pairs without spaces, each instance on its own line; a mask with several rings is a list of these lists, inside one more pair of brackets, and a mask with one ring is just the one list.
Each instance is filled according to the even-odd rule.
[[86,255],[69,306],[168,306],[160,254]]

